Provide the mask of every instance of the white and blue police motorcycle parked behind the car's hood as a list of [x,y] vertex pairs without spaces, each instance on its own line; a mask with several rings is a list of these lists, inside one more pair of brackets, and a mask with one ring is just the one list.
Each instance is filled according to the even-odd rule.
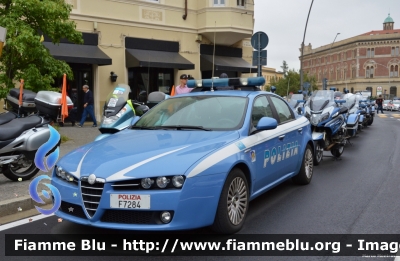
[[130,93],[131,88],[127,84],[118,84],[109,93],[99,126],[101,135],[97,136],[95,141],[128,128],[132,118],[140,117],[149,110],[144,103],[129,99]]

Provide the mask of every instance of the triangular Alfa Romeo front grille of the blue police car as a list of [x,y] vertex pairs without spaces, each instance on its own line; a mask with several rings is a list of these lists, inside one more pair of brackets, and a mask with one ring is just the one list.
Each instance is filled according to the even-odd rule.
[[81,180],[83,204],[90,217],[93,217],[99,207],[103,188],[104,183],[94,183],[91,185],[89,182]]

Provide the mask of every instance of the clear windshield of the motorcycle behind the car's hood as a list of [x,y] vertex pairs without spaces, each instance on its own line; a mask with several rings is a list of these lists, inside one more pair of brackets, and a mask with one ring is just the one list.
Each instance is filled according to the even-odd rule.
[[128,85],[118,85],[115,87],[107,96],[105,104],[105,114],[115,115],[117,114],[126,104],[129,99],[129,93],[131,88]]

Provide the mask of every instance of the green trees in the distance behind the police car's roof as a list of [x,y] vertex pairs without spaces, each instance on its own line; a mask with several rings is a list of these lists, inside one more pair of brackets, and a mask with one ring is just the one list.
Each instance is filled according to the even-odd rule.
[[[311,88],[309,91],[317,90],[317,81],[315,77],[310,77],[307,74],[303,75],[303,82],[309,82],[311,83]],[[270,85],[266,86],[266,90],[270,91],[271,86],[276,87],[276,94],[284,97],[287,96],[288,93],[298,93],[300,88],[300,73],[298,71],[295,71],[294,69],[291,69],[287,72],[287,75],[285,78],[282,78],[280,80],[275,80],[274,78],[271,80]],[[288,91],[288,86],[289,86],[289,91]]]

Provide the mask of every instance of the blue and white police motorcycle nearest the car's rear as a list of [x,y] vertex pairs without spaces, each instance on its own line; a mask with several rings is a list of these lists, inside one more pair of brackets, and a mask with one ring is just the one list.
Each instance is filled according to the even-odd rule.
[[316,153],[314,164],[319,165],[324,151],[338,159],[347,143],[346,116],[348,109],[340,106],[344,100],[335,100],[333,90],[317,90],[305,106],[305,116],[312,125]]

